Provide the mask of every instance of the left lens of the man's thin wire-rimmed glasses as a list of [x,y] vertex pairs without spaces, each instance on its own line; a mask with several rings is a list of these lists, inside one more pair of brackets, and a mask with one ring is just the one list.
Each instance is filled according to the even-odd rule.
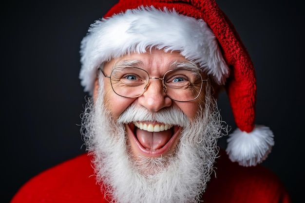
[[116,67],[110,76],[114,92],[124,97],[141,95],[149,81],[146,71],[135,67]]

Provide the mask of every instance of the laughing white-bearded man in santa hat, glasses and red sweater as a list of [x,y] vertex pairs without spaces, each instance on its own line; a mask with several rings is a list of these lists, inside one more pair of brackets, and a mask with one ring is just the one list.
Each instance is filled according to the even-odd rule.
[[[25,184],[12,203],[289,203],[259,165],[253,64],[214,0],[121,0],[81,42],[84,154]],[[228,93],[228,133],[217,94]],[[230,160],[229,160],[230,159]]]

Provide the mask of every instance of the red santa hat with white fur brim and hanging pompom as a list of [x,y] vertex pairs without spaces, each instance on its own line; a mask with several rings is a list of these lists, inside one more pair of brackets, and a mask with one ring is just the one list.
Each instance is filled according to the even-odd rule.
[[274,145],[273,133],[255,125],[256,76],[235,28],[215,0],[120,0],[81,42],[79,78],[92,94],[97,68],[111,58],[156,47],[179,51],[225,85],[235,123],[227,153],[255,166]]

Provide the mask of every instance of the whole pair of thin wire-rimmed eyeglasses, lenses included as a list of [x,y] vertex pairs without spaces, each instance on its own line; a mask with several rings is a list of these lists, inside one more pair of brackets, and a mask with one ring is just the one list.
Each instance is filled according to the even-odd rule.
[[202,79],[200,73],[187,69],[170,70],[162,78],[150,77],[147,71],[132,66],[115,67],[110,75],[104,76],[110,78],[112,89],[117,95],[128,98],[141,96],[148,88],[150,79],[162,80],[166,95],[179,102],[196,99],[202,90],[203,82],[209,80]]

